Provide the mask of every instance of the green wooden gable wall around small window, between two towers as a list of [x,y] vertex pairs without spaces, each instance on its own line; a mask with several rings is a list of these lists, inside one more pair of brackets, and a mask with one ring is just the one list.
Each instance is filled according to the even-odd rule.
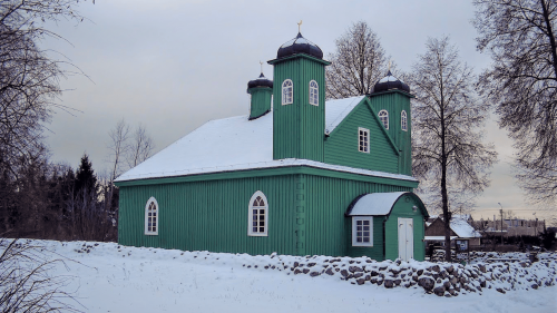
[[[360,102],[325,140],[325,163],[388,173],[399,173],[397,147],[387,138],[382,124],[367,100]],[[359,127],[370,130],[370,153],[361,153]]]

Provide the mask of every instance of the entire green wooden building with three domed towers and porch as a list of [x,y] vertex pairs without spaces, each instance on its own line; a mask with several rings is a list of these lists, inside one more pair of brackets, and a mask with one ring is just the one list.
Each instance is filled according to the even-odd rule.
[[325,101],[321,49],[297,35],[251,80],[248,116],[212,120],[121,175],[123,245],[424,257],[410,88]]

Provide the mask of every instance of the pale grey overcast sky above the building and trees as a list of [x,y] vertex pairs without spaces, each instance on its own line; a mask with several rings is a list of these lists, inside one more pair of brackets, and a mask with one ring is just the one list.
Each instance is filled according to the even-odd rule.
[[[85,76],[62,80],[60,104],[71,114],[56,111],[48,126],[53,162],[77,167],[87,153],[94,168],[108,167],[108,131],[125,118],[147,127],[156,150],[211,119],[245,115],[247,81],[260,74],[260,60],[276,57],[277,48],[302,33],[323,50],[355,21],[364,20],[404,71],[428,37],[449,35],[461,59],[477,72],[490,59],[476,50],[470,20],[473,6],[465,0],[405,1],[206,1],[96,0],[79,11],[82,23],[59,22],[50,28],[63,40],[43,42],[63,53]],[[273,69],[264,65],[272,78]],[[473,216],[492,217],[501,203],[519,217],[545,217],[547,211],[525,203],[512,178],[511,141],[495,119],[486,125],[487,141],[496,144],[499,163],[491,187],[478,197]]]

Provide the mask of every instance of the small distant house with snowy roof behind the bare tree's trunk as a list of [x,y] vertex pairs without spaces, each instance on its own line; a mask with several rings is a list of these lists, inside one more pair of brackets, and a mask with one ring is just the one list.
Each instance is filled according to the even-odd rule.
[[[481,244],[481,234],[473,229],[469,224],[470,218],[467,215],[453,215],[450,223],[450,239],[463,238],[469,239],[471,246]],[[426,227],[426,242],[444,242],[444,221],[442,217],[437,217],[429,222]]]

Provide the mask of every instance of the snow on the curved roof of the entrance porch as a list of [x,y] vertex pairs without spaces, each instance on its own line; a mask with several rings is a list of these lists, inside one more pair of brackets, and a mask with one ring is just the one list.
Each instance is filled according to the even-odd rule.
[[350,216],[388,215],[394,202],[408,192],[368,194],[358,199]]

